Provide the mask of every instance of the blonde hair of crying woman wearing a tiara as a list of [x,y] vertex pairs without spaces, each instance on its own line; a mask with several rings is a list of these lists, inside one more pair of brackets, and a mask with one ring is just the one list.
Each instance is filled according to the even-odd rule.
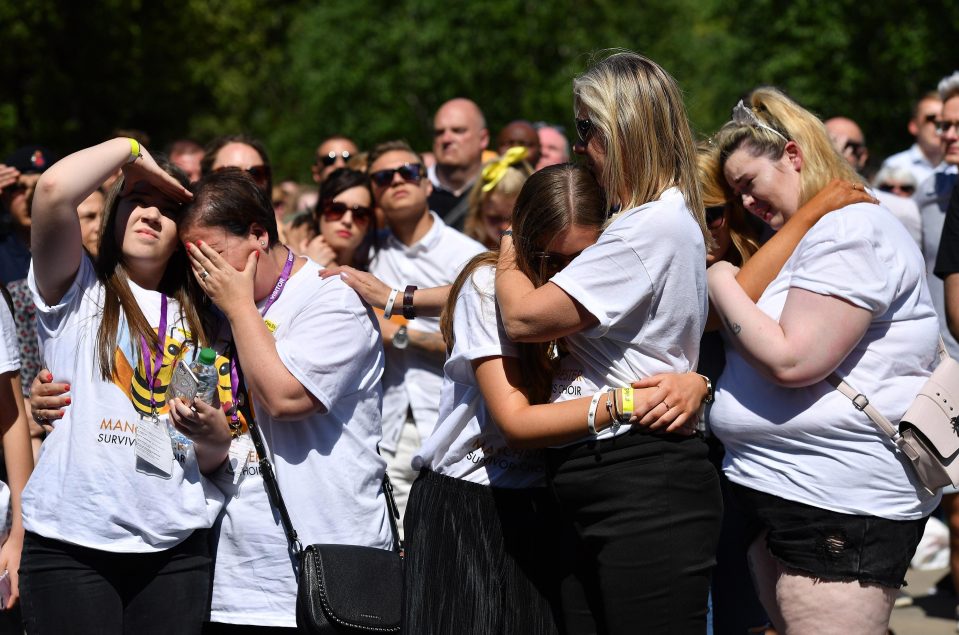
[[719,169],[736,150],[744,149],[755,157],[772,161],[782,158],[787,139],[795,141],[802,151],[799,173],[799,205],[805,205],[833,179],[862,183],[862,178],[840,156],[829,139],[826,127],[812,114],[782,91],[764,86],[744,100],[759,120],[782,135],[748,123],[730,121],[716,133],[713,143],[719,149]]

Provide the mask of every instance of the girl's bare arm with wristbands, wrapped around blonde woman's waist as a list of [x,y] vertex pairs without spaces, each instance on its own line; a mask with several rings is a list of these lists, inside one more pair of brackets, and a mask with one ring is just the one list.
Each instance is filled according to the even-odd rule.
[[[484,357],[473,362],[473,371],[486,407],[510,447],[542,448],[569,443],[588,434],[586,415],[592,395],[569,401],[530,405],[523,388],[519,362],[512,357]],[[663,376],[665,377],[665,376]],[[693,373],[671,376],[676,383],[637,389],[633,425],[652,430],[690,434],[687,424],[705,398],[703,380]],[[677,393],[671,392],[672,389]],[[672,396],[671,396],[672,395]],[[669,408],[664,402],[673,400]],[[596,429],[604,430],[612,420],[606,408],[607,396],[596,409]]]

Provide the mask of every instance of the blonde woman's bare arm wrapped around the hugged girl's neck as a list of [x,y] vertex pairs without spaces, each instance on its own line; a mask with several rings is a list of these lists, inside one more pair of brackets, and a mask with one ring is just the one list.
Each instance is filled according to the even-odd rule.
[[514,342],[548,342],[590,328],[598,320],[552,282],[536,288],[516,268],[513,237],[503,236],[496,266],[496,301]]

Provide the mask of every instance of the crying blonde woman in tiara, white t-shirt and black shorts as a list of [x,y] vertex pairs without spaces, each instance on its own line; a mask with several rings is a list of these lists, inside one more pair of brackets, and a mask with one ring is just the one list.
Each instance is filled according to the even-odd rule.
[[[822,123],[773,88],[714,143],[732,191],[776,230],[834,179],[864,190]],[[777,271],[761,297],[728,262],[708,274],[732,344],[710,425],[753,529],[756,590],[779,632],[881,635],[939,494],[834,386],[897,422],[926,381],[938,329],[922,256],[873,199],[818,220]]]

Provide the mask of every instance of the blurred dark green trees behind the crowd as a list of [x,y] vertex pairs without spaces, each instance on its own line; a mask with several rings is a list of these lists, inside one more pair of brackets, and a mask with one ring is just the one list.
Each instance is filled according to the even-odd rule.
[[[454,96],[493,135],[525,118],[570,129],[590,53],[660,62],[707,136],[758,84],[863,127],[876,166],[906,148],[911,104],[959,68],[955,0],[0,1],[0,152],[67,153],[137,128],[262,139],[278,178],[308,180],[317,143],[430,146]],[[2,156],[2,155],[0,155]]]

